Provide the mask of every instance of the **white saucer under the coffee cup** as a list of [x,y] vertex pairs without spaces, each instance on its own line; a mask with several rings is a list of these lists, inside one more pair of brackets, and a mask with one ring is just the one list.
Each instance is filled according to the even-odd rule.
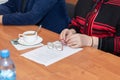
[[41,43],[43,41],[43,39],[38,36],[37,40],[34,43],[27,43],[23,40],[23,38],[18,39],[18,43],[21,45],[25,45],[25,46],[33,46],[33,45],[37,45],[39,43]]

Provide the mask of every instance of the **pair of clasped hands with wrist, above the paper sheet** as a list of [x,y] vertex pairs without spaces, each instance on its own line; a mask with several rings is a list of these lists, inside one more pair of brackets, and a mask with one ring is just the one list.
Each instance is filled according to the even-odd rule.
[[98,47],[98,37],[76,33],[74,29],[64,29],[60,34],[62,44],[72,48],[78,47]]

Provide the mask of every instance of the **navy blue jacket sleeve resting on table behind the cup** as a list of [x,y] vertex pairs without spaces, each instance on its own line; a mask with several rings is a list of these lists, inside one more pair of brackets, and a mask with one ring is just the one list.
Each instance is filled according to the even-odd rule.
[[36,0],[33,8],[26,13],[12,13],[3,16],[4,25],[32,25],[38,23],[53,7],[57,0]]

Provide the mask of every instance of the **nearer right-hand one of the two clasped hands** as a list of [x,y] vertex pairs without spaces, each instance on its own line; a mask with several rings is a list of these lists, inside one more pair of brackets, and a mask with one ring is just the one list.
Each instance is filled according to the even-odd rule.
[[92,46],[93,40],[91,36],[85,34],[74,34],[66,37],[67,45],[72,48]]

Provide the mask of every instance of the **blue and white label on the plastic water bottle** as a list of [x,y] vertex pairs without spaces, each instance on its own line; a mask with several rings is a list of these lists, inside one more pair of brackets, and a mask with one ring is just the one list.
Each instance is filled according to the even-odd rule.
[[0,80],[16,80],[16,72],[14,70],[0,70]]

